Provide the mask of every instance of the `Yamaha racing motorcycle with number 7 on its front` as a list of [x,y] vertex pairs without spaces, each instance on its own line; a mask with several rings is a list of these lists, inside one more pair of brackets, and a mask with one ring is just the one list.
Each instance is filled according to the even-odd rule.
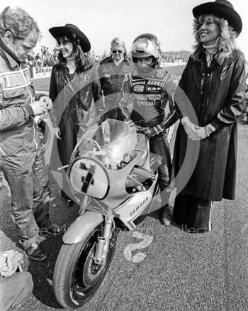
[[67,174],[80,212],[64,233],[53,275],[60,305],[75,309],[91,300],[111,266],[120,225],[132,230],[161,206],[160,163],[147,137],[123,121],[106,119],[79,140]]

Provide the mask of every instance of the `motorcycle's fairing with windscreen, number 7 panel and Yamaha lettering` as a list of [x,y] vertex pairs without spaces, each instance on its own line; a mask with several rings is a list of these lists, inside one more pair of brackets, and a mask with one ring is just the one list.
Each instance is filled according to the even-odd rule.
[[[131,229],[133,220],[153,201],[158,178],[154,170],[160,163],[157,156],[150,163],[149,142],[142,133],[121,121],[106,122],[105,127],[95,125],[81,138],[72,155],[69,177],[76,192],[91,197],[86,210],[111,213]],[[116,126],[115,138],[108,122]],[[106,157],[113,162],[109,164]]]

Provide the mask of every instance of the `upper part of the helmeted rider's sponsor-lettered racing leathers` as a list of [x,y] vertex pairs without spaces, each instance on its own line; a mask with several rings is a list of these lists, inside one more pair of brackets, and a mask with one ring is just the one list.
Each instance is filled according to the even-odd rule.
[[[130,118],[135,122],[140,122],[141,126],[152,128],[152,136],[162,133],[169,128],[178,115],[174,104],[174,92],[178,84],[178,79],[170,72],[158,67],[150,74],[141,77],[137,71],[125,75],[123,96],[120,99],[120,108],[128,118],[126,108],[132,104]],[[169,114],[165,112],[169,102]],[[143,125],[142,125],[142,121]]]

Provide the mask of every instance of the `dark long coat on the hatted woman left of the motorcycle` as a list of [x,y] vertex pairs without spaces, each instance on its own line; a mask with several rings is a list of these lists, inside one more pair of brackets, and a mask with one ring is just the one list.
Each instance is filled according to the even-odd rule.
[[[105,109],[101,98],[101,87],[97,68],[69,75],[62,75],[60,64],[52,67],[50,98],[53,110],[50,114],[54,127],[60,127],[62,140],[54,140],[50,167],[55,169],[57,151],[62,165],[69,164],[72,151],[81,136]],[[57,145],[57,146],[56,146]],[[52,164],[55,163],[55,166]],[[58,166],[62,166],[62,165]]]

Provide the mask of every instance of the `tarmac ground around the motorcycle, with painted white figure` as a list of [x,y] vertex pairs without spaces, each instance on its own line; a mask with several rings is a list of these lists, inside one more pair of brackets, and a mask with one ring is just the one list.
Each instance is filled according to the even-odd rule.
[[[247,153],[248,125],[241,123],[236,200],[213,204],[213,231],[187,234],[178,227],[162,226],[154,215],[133,231],[121,231],[106,280],[94,298],[78,310],[248,310]],[[52,175],[50,187],[52,220],[59,225],[71,223],[78,207],[64,204]],[[0,249],[23,253],[6,187],[1,188],[0,202]],[[41,263],[30,261],[24,253],[23,268],[32,273],[34,290],[20,310],[64,310],[52,292],[52,273],[61,244],[61,236],[43,239],[48,258]]]

